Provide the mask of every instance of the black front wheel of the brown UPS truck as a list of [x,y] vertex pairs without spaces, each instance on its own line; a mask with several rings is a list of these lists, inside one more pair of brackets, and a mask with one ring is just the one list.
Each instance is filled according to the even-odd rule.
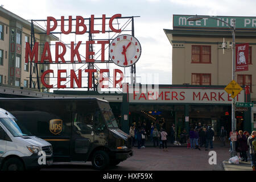
[[94,152],[92,166],[97,170],[104,170],[109,166],[109,155],[102,150]]

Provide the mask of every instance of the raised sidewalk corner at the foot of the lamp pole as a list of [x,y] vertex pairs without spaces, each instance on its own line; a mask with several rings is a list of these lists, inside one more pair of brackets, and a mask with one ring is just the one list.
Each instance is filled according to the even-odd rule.
[[230,164],[228,160],[222,162],[225,171],[252,171],[250,160],[249,162],[241,162],[239,164]]

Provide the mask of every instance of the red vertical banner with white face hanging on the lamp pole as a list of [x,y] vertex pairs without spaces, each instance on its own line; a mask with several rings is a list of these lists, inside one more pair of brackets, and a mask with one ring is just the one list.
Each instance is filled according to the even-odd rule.
[[236,72],[248,71],[249,44],[236,44]]

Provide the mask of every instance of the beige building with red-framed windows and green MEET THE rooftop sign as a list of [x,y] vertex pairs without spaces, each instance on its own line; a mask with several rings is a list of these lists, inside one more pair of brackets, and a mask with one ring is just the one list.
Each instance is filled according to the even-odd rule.
[[[232,81],[232,31],[215,19],[188,22],[191,15],[174,15],[173,30],[164,29],[172,45],[172,84],[228,85]],[[256,101],[256,17],[220,16],[229,23],[236,19],[236,44],[249,43],[249,71],[236,72],[235,81],[250,85]]]

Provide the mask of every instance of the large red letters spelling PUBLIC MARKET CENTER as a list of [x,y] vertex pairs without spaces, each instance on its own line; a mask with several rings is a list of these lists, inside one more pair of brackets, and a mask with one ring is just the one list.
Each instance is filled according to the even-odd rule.
[[[101,30],[95,30],[94,28],[94,15],[91,15],[90,17],[90,26],[87,27],[85,24],[85,19],[82,16],[76,16],[76,19],[72,19],[72,16],[68,17],[67,19],[64,19],[64,16],[61,16],[60,20],[56,20],[52,16],[47,17],[47,35],[51,34],[57,26],[60,26],[61,33],[63,34],[71,34],[74,32],[72,31],[72,28],[75,28],[75,34],[82,35],[86,32],[90,32],[92,34],[105,34],[106,28],[107,30],[110,30],[112,32],[120,33],[121,29],[116,29],[113,27],[113,20],[116,18],[121,18],[121,14],[115,14],[109,19],[109,27],[106,27],[106,15],[102,15],[102,27]],[[65,27],[64,22],[68,21],[68,28]],[[58,24],[60,23],[60,25]],[[76,24],[72,24],[72,22],[76,22]],[[64,28],[65,27],[65,28]],[[67,30],[68,29],[68,30]],[[88,31],[90,30],[90,31]],[[76,63],[75,57],[77,57],[77,62],[82,63],[81,57],[80,57],[80,50],[79,47],[81,46],[82,41],[77,42],[75,44],[74,42],[71,42],[71,48],[68,55],[70,55],[70,63]],[[95,55],[95,52],[90,51],[90,46],[93,46],[93,44],[100,44],[101,45],[101,62],[105,61],[105,47],[106,44],[109,44],[109,40],[98,40],[97,42],[94,40],[86,41],[86,48],[85,50],[85,63],[94,63],[95,60],[93,59],[93,55]],[[62,42],[56,42],[55,43],[55,55],[52,57],[51,48],[48,42],[44,43],[43,53],[40,57],[40,63],[47,63],[51,64],[53,63],[53,58],[55,58],[55,63],[59,63],[61,61],[62,63],[67,63],[64,56],[67,53],[67,48],[64,43]],[[39,43],[35,42],[33,45],[33,48],[31,49],[30,43],[26,43],[26,52],[25,52],[25,63],[28,63],[28,61],[38,63],[39,62]],[[67,58],[66,58],[67,59]],[[78,74],[76,75],[76,71],[71,69],[70,70],[70,88],[73,88],[74,83],[76,83],[77,88],[82,88],[82,70],[78,70]],[[92,75],[97,72],[96,69],[85,69],[86,73],[88,73],[88,88],[92,88]],[[53,88],[53,85],[48,85],[45,81],[45,77],[48,74],[53,74],[52,69],[48,69],[47,71],[44,71],[41,76],[41,82],[46,88]],[[57,70],[57,88],[67,88],[66,85],[61,85],[61,81],[67,81],[67,77],[61,77],[61,73],[64,75],[64,73],[67,73],[66,69],[59,69]],[[109,69],[100,69],[100,87],[101,88],[109,88],[108,85],[104,85],[104,81],[108,81],[108,77],[103,77],[104,73],[109,73]],[[117,74],[119,74],[119,79],[117,80]],[[114,69],[113,71],[113,88],[116,88],[117,84],[122,88],[122,80],[123,80],[123,72],[119,69]]]

